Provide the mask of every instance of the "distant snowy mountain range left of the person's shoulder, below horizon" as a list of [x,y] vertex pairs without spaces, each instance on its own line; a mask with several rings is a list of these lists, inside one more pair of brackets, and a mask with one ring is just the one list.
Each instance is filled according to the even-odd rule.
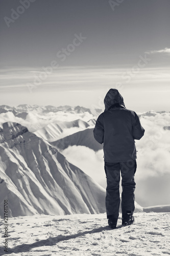
[[37,136],[47,141],[55,141],[94,126],[101,111],[81,106],[1,105],[0,127],[4,122],[17,122],[28,127]]

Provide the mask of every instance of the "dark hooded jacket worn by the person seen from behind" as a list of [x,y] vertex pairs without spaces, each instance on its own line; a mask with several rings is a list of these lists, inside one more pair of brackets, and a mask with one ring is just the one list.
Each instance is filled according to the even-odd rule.
[[104,143],[105,162],[125,162],[136,159],[135,139],[144,135],[137,114],[125,107],[122,95],[110,89],[104,99],[105,111],[96,120],[94,138]]

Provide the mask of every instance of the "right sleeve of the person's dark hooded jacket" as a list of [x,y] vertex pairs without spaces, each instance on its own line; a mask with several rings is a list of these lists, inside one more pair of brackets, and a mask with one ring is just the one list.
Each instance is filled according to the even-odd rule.
[[133,112],[132,114],[132,136],[134,140],[140,140],[144,135],[144,129],[140,124],[138,115]]

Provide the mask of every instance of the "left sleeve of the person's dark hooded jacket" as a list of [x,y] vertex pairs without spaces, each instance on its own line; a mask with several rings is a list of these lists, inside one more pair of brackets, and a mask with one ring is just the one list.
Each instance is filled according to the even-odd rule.
[[93,130],[94,139],[98,141],[100,144],[104,141],[104,124],[103,117],[100,115],[96,120],[95,127]]

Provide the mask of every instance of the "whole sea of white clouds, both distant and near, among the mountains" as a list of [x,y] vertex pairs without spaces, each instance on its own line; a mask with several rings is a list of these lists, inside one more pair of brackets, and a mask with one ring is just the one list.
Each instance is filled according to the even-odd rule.
[[[93,116],[89,113],[57,112],[40,115],[32,112],[28,114],[26,120],[23,120],[8,112],[0,115],[0,124],[2,126],[2,123],[6,121],[18,122],[27,126],[29,131],[35,132],[49,123],[71,121],[79,118],[88,121]],[[170,126],[170,113],[156,113],[154,111],[151,111],[150,114],[143,113],[140,114],[140,122],[145,129],[145,133],[140,140],[136,140],[136,201],[142,206],[169,204],[170,130],[164,129],[164,127]],[[76,127],[66,129],[59,138],[77,131],[80,131],[80,129]],[[96,182],[106,187],[103,150],[94,152],[86,146],[74,145],[66,148],[62,154],[69,162],[81,168]]]

